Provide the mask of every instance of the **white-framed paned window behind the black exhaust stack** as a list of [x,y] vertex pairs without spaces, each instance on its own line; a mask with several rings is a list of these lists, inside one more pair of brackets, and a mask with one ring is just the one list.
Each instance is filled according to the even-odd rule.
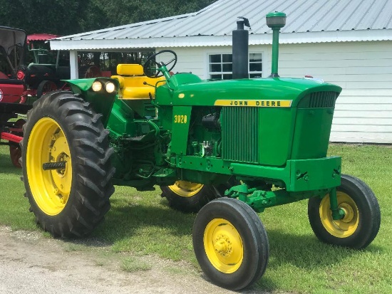
[[[262,53],[249,53],[249,78],[260,78],[263,72]],[[231,53],[208,55],[208,76],[210,79],[230,80],[233,75]]]

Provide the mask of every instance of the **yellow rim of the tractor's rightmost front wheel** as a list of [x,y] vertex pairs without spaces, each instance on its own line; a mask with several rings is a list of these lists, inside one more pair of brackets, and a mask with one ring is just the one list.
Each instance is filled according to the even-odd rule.
[[332,219],[331,204],[329,195],[326,195],[320,203],[320,217],[326,231],[337,238],[347,238],[351,236],[359,224],[359,211],[355,201],[346,193],[337,191],[339,209],[344,210],[344,218]]

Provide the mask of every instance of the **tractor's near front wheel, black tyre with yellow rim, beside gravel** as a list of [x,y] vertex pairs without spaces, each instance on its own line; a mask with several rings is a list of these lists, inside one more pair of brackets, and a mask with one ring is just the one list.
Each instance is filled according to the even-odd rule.
[[242,201],[222,198],[205,205],[196,216],[192,238],[200,268],[223,288],[246,288],[267,268],[267,232]]

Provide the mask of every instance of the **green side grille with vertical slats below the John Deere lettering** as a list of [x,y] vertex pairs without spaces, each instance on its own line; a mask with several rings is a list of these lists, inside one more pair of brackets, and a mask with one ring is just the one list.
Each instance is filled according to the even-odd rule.
[[223,107],[222,159],[259,162],[259,108]]

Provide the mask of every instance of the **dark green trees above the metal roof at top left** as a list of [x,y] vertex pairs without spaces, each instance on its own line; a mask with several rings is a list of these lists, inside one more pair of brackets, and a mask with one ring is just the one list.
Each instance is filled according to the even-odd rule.
[[1,0],[0,25],[66,36],[187,14],[214,0]]

